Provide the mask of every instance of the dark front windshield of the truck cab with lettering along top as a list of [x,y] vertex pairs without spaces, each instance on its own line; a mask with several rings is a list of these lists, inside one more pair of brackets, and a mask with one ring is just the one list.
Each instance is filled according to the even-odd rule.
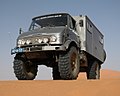
[[44,28],[44,27],[66,26],[66,25],[67,25],[67,15],[48,15],[33,19],[29,30],[34,30],[37,28]]

